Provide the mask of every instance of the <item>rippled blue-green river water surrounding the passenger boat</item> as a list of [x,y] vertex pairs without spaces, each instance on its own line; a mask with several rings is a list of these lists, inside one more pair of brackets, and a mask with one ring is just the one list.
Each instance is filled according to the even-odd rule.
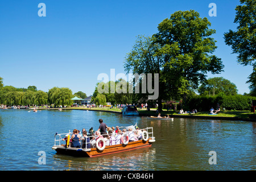
[[[54,135],[90,127],[98,119],[108,126],[153,127],[151,147],[76,158],[56,154]],[[158,121],[146,117],[83,110],[0,110],[0,170],[255,170],[256,123],[175,118]],[[39,151],[46,164],[38,164]],[[209,152],[217,164],[209,164]]]

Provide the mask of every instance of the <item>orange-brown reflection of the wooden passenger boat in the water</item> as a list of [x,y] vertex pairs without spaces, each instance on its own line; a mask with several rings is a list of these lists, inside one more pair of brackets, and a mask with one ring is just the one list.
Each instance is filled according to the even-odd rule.
[[[64,166],[65,170],[155,170],[155,148],[144,147],[133,151],[118,152],[94,158],[76,158],[55,154],[54,164]],[[61,161],[61,163],[60,163]]]

